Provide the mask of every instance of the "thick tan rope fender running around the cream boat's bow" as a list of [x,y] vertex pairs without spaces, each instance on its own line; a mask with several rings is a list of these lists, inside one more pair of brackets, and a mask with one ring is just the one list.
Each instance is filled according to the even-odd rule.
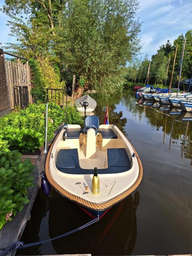
[[[58,134],[59,135],[59,134]],[[58,136],[57,135],[57,136]],[[54,140],[54,142],[56,141],[57,139],[57,136]],[[46,177],[47,179],[49,180],[49,182],[51,183],[51,185],[53,187],[55,187],[62,195],[64,195],[65,197],[79,203],[79,204],[82,204],[88,208],[91,208],[91,209],[94,209],[94,210],[103,210],[103,209],[106,209],[108,207],[111,207],[113,206],[114,204],[120,202],[121,200],[123,200],[125,197],[127,197],[128,195],[130,195],[137,187],[138,185],[140,184],[141,180],[142,180],[142,177],[143,177],[143,167],[142,167],[142,164],[141,164],[141,160],[138,156],[138,153],[136,152],[135,148],[131,145],[130,141],[128,141],[128,143],[130,143],[131,147],[133,148],[133,151],[135,153],[135,156],[137,157],[137,160],[138,160],[138,165],[139,165],[139,175],[138,175],[138,178],[135,182],[135,184],[133,184],[129,189],[127,189],[125,192],[121,193],[120,195],[118,195],[117,197],[109,200],[108,202],[105,202],[103,204],[96,204],[96,203],[93,203],[93,202],[90,202],[86,199],[83,199],[77,195],[74,195],[70,192],[68,192],[67,190],[65,190],[64,188],[62,188],[59,184],[57,184],[57,182],[55,182],[51,175],[50,175],[50,172],[49,172],[49,160],[50,160],[50,155],[51,155],[51,150],[54,146],[54,142],[52,143],[50,149],[49,149],[49,152],[47,154],[47,159],[46,159],[46,162],[45,162],[45,173],[46,173]]]

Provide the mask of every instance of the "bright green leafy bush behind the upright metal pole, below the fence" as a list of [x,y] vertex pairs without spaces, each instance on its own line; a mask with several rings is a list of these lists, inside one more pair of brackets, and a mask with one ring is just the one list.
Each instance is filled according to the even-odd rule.
[[[48,108],[48,140],[52,140],[54,131],[62,123],[83,124],[83,117],[73,106],[62,110],[50,103]],[[45,104],[30,104],[28,108],[0,118],[0,139],[8,141],[11,150],[34,152],[44,145]]]

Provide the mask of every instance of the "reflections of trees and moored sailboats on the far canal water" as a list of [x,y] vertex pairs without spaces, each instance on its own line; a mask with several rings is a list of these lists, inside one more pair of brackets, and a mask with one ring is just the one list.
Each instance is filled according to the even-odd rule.
[[[192,123],[189,124],[186,133],[185,123],[178,122],[178,120],[192,121],[192,113],[182,111],[181,108],[173,108],[167,104],[159,104],[151,100],[136,100],[133,91],[125,91],[123,94],[118,94],[110,98],[108,102],[101,97],[97,98],[96,95],[93,95],[93,97],[98,103],[96,112],[99,115],[101,123],[104,121],[106,104],[109,104],[109,122],[115,123],[125,135],[128,135],[126,129],[126,112],[122,110],[125,106],[126,111],[135,115],[136,119],[140,122],[147,118],[148,123],[156,127],[157,130],[162,128],[162,143],[165,144],[165,140],[167,140],[165,135],[169,136],[169,150],[171,150],[173,144],[180,145],[180,150],[185,152],[183,154],[184,157],[192,159]],[[117,111],[117,109],[120,109],[120,111]],[[183,139],[184,137],[185,141]]]

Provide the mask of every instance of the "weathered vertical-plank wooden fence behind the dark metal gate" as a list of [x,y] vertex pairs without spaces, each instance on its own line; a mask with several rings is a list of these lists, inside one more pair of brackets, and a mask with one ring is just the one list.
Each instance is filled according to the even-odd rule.
[[5,70],[10,98],[10,109],[14,109],[15,107],[13,95],[14,86],[27,86],[29,103],[32,103],[29,62],[27,61],[26,64],[22,64],[19,58],[17,62],[5,60]]

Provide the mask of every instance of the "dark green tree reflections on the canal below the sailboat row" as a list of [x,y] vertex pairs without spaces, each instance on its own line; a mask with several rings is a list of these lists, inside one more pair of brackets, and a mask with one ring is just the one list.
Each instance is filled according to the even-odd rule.
[[[123,93],[114,94],[110,98],[106,99],[102,96],[92,95],[94,99],[97,101],[96,115],[99,116],[100,124],[104,123],[104,116],[106,105],[108,104],[109,108],[109,123],[116,124],[118,128],[127,136],[126,134],[126,123],[127,118],[125,117],[122,110],[119,112],[116,111],[121,109],[121,106],[126,106],[126,111],[131,112],[136,119],[140,122],[142,120],[146,120],[148,124],[153,127],[156,127],[157,131],[161,130],[164,133],[162,143],[165,143],[165,134],[169,136],[169,148],[171,149],[172,144],[180,143],[180,150],[182,157],[187,159],[192,159],[192,121],[189,121],[189,125],[187,127],[185,121],[178,122],[178,115],[168,115],[170,112],[169,107],[165,105],[165,109],[162,106],[153,107],[150,106],[141,106],[141,104],[136,104],[136,98],[134,92],[132,90],[126,90]],[[181,116],[183,116],[185,112],[181,112]],[[166,122],[165,122],[166,119]],[[186,132],[187,130],[187,132]],[[182,153],[183,152],[183,153]]]

